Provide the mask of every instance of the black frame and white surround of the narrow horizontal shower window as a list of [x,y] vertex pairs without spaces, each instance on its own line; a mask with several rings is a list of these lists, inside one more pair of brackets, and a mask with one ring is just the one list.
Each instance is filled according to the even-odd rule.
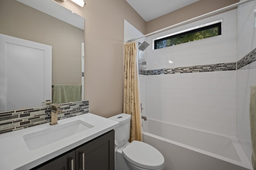
[[[152,39],[152,49],[153,50],[161,49],[161,48],[157,48],[157,42],[161,42],[164,40],[168,40],[168,39],[172,39],[172,38],[176,38],[176,37],[180,37],[180,36],[184,36],[184,35],[188,35],[188,34],[193,34],[193,33],[199,32],[199,31],[208,30],[208,29],[212,29],[212,28],[216,28],[216,27],[218,27],[218,36],[222,35],[222,20],[217,20],[214,22],[202,24],[200,26],[196,26],[193,28],[189,28],[186,30],[182,30],[179,32],[161,36],[158,38],[154,38],[154,39]],[[215,37],[215,36],[213,36],[213,37]],[[211,38],[211,37],[208,37],[208,38]],[[205,38],[202,38],[202,39],[205,39]],[[202,39],[200,39],[200,40],[202,40]],[[176,45],[178,45],[178,44],[176,44]],[[172,45],[170,45],[170,46],[172,46]],[[167,46],[167,47],[170,47],[170,46]],[[162,47],[162,48],[165,48],[165,47]]]

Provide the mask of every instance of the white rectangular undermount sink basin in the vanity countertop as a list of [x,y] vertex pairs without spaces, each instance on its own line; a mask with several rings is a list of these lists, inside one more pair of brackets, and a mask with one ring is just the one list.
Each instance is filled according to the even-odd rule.
[[77,120],[62,125],[55,125],[54,127],[39,130],[37,132],[25,134],[23,136],[23,139],[28,146],[28,149],[34,150],[36,148],[46,146],[47,144],[51,144],[52,142],[56,142],[58,140],[72,136],[84,130],[88,130],[92,127],[94,126],[90,125],[89,123]]

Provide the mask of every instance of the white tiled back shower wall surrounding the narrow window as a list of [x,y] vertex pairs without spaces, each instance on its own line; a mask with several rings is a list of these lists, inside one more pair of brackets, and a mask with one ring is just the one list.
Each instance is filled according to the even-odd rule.
[[220,19],[221,36],[146,50],[148,118],[236,135],[236,10],[147,37],[146,41]]

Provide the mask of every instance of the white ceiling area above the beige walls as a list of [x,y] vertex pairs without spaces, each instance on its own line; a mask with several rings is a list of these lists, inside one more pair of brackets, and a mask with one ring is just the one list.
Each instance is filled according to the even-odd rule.
[[150,21],[199,0],[126,0],[138,14]]

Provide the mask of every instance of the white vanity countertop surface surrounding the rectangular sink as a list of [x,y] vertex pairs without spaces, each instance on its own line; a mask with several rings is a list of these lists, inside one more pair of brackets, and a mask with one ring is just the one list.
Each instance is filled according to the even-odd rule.
[[[23,139],[25,134],[76,120],[85,121],[94,127],[34,150],[29,150]],[[118,126],[119,123],[116,121],[86,113],[84,115],[62,119],[58,121],[57,125],[51,126],[45,123],[43,125],[0,134],[0,170],[29,170]]]

